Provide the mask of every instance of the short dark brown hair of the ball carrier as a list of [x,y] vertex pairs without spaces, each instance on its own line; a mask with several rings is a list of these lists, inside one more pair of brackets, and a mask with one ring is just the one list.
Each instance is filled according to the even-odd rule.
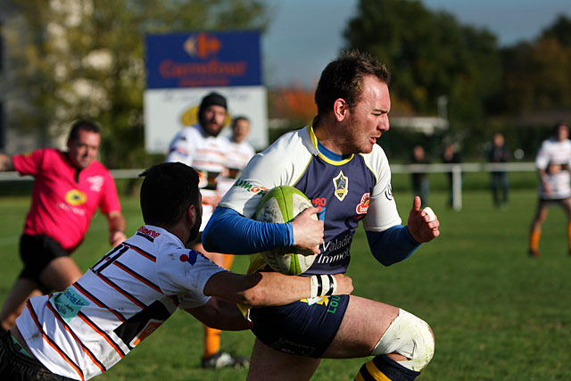
[[335,99],[343,98],[349,108],[360,101],[363,79],[375,76],[387,85],[391,72],[377,58],[359,50],[344,51],[335,61],[329,62],[321,72],[318,88],[315,90],[315,104],[318,115],[333,109]]

